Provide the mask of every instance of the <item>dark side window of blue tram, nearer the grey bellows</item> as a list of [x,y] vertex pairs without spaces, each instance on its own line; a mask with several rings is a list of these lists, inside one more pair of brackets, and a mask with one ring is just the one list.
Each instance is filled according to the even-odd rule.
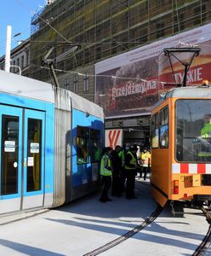
[[88,137],[88,128],[77,126],[77,165],[88,163]]

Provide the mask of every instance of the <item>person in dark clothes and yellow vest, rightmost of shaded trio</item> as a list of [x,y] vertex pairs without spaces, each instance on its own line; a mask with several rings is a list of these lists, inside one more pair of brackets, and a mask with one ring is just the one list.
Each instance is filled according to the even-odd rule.
[[135,175],[138,167],[137,160],[137,152],[138,148],[134,145],[129,149],[128,153],[125,156],[125,172],[127,177],[126,183],[126,198],[127,199],[135,199],[134,195],[134,183],[135,183]]

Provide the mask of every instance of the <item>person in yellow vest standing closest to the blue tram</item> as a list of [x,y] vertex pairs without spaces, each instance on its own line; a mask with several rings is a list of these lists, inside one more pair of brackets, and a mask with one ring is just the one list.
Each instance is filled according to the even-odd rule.
[[102,177],[102,193],[100,196],[101,202],[112,201],[108,197],[108,191],[111,188],[112,177],[111,152],[112,148],[107,147],[100,161],[100,175]]

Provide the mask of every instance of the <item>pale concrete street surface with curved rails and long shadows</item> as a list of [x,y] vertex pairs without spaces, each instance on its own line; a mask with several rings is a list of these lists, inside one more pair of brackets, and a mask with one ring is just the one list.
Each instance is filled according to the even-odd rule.
[[[136,180],[138,199],[99,193],[49,211],[0,219],[1,255],[210,255],[209,207],[179,204],[163,209],[150,181]],[[16,220],[16,221],[15,221]],[[205,245],[204,245],[205,244]]]

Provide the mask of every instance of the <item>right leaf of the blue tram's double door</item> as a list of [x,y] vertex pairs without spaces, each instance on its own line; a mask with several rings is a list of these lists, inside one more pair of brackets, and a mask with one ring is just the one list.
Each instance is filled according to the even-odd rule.
[[44,117],[43,112],[25,110],[22,209],[43,206]]

